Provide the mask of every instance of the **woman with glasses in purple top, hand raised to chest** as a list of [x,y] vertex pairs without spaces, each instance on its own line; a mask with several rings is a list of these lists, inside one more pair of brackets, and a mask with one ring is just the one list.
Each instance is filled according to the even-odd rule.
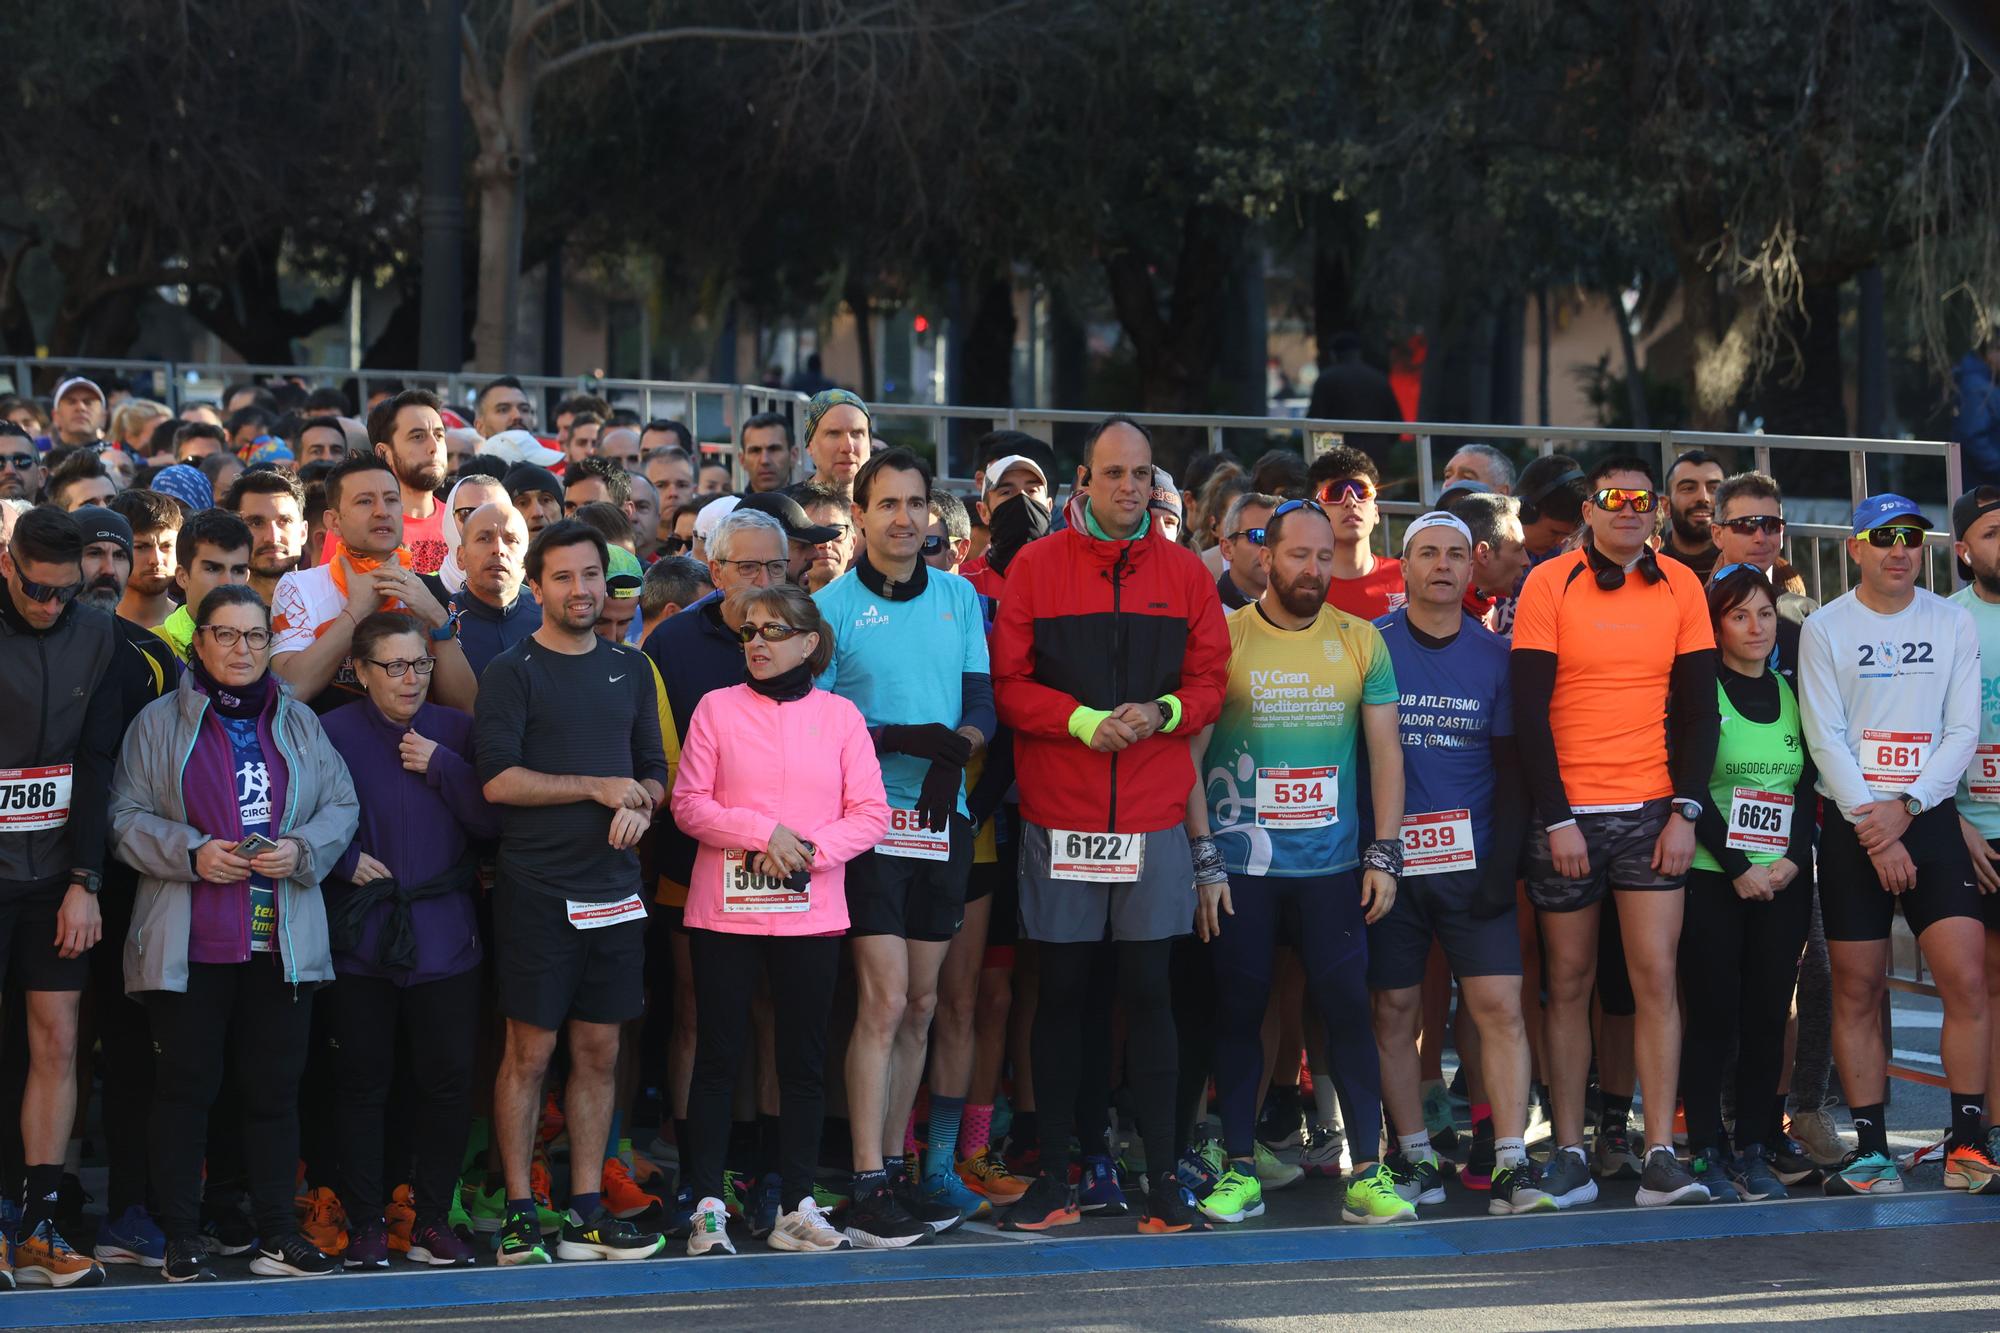
[[394,1161],[388,1179],[410,1181],[416,1217],[396,1239],[412,1263],[472,1263],[448,1215],[482,999],[472,843],[500,837],[500,815],[472,769],[472,717],[426,699],[434,662],[416,618],[366,616],[354,628],[366,697],[324,719],[360,797],[360,831],[326,885],[350,1269],[388,1267],[384,1117],[404,1047],[414,1099],[396,1115],[416,1169],[406,1177],[408,1157]]

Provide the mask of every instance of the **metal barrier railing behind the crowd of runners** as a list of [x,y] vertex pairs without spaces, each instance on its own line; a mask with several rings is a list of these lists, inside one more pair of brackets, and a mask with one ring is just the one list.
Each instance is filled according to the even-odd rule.
[[[422,386],[434,390],[456,408],[470,408],[478,386],[490,374],[446,374],[434,370],[382,370],[342,366],[250,366],[224,362],[158,362],[158,360],[106,360],[106,358],[0,358],[0,372],[10,380],[12,392],[52,392],[58,378],[66,374],[90,374],[108,370],[134,384],[138,392],[152,386],[156,392],[144,394],[180,408],[184,402],[218,400],[224,384],[252,380],[260,376],[298,376],[306,382],[340,384],[354,380],[366,408],[368,396],[376,390],[402,386]],[[808,394],[772,388],[766,384],[712,384],[696,380],[630,380],[594,376],[542,376],[520,374],[522,388],[548,394],[592,392],[604,396],[612,406],[630,406],[642,420],[678,418],[694,432],[700,448],[708,456],[726,460],[736,470],[736,440],[742,424],[758,412],[780,412],[796,426]],[[870,412],[876,418],[878,434],[896,436],[898,442],[926,444],[934,454],[934,470],[940,480],[956,488],[972,486],[970,458],[962,450],[962,440],[976,438],[986,430],[1022,430],[1044,442],[1054,442],[1058,428],[1084,428],[1102,420],[1102,412],[1062,410],[1062,408],[1016,408],[1016,406],[956,406],[920,402],[874,402]],[[1230,416],[1230,414],[1170,414],[1170,412],[1130,412],[1150,430],[1176,430],[1202,440],[1208,452],[1234,448],[1240,454],[1264,452],[1268,448],[1298,448],[1308,460],[1324,448],[1340,442],[1348,432],[1382,434],[1384,422],[1324,420],[1290,416]],[[1944,506],[1962,488],[1958,446],[1942,440],[1870,440],[1836,436],[1780,436],[1780,434],[1726,434],[1710,430],[1612,430],[1598,426],[1502,426],[1468,422],[1404,422],[1400,432],[1416,444],[1416,500],[1382,500],[1384,522],[1378,526],[1382,550],[1394,550],[1408,520],[1436,500],[1442,486],[1438,466],[1440,444],[1456,448],[1466,440],[1518,442],[1526,452],[1630,452],[1658,458],[1660,472],[1672,466],[1680,454],[1702,448],[1722,450],[1726,458],[1744,460],[1760,472],[1778,474],[1774,466],[1780,454],[1840,454],[1846,460],[1848,504],[1858,504],[1870,490],[1880,490],[1870,476],[1870,460],[1888,464],[1890,460],[1936,460],[1942,462],[1942,496],[1912,496],[1930,504],[1942,516]],[[1244,444],[1252,444],[1244,448]],[[1446,454],[1448,456],[1448,454]],[[960,464],[960,466],[954,466]],[[1794,502],[1798,496],[1794,496]],[[1954,564],[1950,532],[1932,532],[1924,544],[1924,586],[1948,592],[1954,586]],[[1806,580],[1806,592],[1820,600],[1832,600],[1852,584],[1852,568],[1846,556],[1846,524],[1788,522],[1784,558],[1796,566]],[[1902,929],[1898,919],[1898,931]],[[1908,967],[1900,967],[1894,955],[1908,955]],[[1890,987],[1916,995],[1936,997],[1922,953],[1914,947],[1896,949],[1890,963]],[[1922,1083],[1942,1083],[1930,1071],[1908,1065],[1890,1065],[1890,1073],[1900,1079]]]

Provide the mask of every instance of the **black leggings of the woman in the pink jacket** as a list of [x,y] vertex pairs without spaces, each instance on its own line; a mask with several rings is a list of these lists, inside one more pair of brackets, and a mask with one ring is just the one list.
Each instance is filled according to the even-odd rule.
[[722,1159],[730,1147],[730,1101],[736,1071],[754,1051],[750,995],[760,971],[770,975],[778,1047],[778,1175],[782,1205],[798,1211],[812,1197],[826,1119],[826,1023],[840,973],[840,941],[824,935],[726,935],[688,931],[694,967],[694,1079],[688,1085],[688,1185],[696,1199],[722,1197]]

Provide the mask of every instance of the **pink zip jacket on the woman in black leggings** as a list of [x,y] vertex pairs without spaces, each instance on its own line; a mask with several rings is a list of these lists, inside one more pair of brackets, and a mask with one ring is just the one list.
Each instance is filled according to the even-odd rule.
[[[860,709],[812,691],[774,703],[748,685],[712,691],[680,745],[674,819],[702,847],[686,925],[728,935],[836,935],[848,929],[848,861],[882,841],[888,799]],[[724,849],[764,851],[784,825],[818,849],[806,911],[722,911]]]

